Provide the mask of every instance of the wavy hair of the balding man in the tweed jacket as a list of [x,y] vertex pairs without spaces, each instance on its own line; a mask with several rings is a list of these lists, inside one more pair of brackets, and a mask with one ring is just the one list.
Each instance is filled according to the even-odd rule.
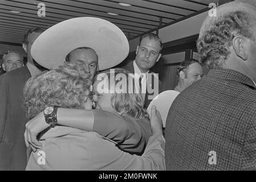
[[233,11],[216,19],[197,40],[200,61],[208,68],[221,68],[229,57],[234,36],[253,38],[255,19],[245,11]]

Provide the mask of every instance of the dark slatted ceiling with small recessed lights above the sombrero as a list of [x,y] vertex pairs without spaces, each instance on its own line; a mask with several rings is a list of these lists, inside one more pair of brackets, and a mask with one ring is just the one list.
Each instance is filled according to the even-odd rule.
[[[120,2],[131,6],[121,6]],[[218,3],[218,0],[0,0],[0,42],[21,44],[23,35],[31,27],[46,29],[81,16],[108,20],[116,24],[128,39],[133,39],[205,10],[210,2]],[[37,15],[38,3],[46,5],[46,16]]]

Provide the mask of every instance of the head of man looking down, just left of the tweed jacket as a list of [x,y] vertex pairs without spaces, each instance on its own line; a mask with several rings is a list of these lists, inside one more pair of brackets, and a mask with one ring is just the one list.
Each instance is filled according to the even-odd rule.
[[202,66],[195,59],[186,59],[181,62],[177,69],[178,85],[174,88],[177,92],[182,92],[189,85],[192,85],[202,77]]

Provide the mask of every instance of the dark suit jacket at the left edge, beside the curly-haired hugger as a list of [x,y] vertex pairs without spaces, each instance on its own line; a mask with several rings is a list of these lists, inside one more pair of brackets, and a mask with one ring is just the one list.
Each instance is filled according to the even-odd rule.
[[31,77],[27,66],[0,76],[0,170],[24,170],[25,110],[23,87]]

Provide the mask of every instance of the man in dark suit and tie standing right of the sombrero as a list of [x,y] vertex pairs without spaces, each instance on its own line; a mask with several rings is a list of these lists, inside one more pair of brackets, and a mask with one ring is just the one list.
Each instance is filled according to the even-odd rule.
[[162,42],[156,34],[145,34],[141,36],[139,46],[136,49],[134,61],[129,61],[123,69],[135,74],[139,81],[141,93],[144,96],[144,107],[156,97],[161,90],[161,82],[156,73],[150,71],[161,57]]

